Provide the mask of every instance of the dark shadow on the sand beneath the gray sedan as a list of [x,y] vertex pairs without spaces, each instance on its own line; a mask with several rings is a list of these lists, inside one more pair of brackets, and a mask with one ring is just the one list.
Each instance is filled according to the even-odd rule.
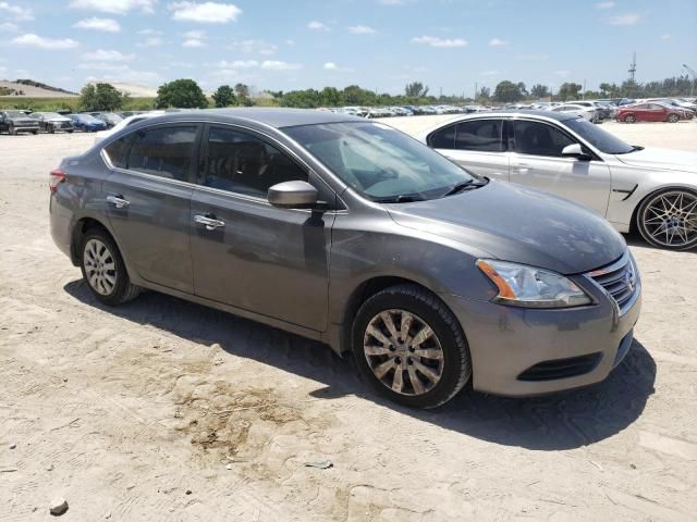
[[134,323],[208,346],[217,343],[236,357],[322,383],[323,387],[310,393],[315,398],[354,395],[420,421],[506,446],[557,450],[608,438],[641,414],[656,381],[653,359],[635,340],[622,364],[594,386],[525,399],[465,389],[440,408],[416,410],[382,399],[360,382],[351,357],[342,359],[327,345],[155,291],[111,308],[99,302],[82,279],[68,283],[64,289],[86,304]]

